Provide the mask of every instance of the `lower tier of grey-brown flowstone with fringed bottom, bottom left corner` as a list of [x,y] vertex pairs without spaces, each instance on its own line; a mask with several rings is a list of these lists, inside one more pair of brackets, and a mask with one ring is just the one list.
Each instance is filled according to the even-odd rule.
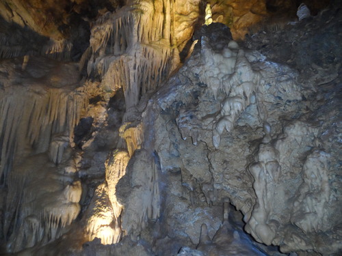
[[55,240],[77,218],[82,188],[77,173],[65,171],[77,166],[69,157],[55,167],[46,154],[37,154],[9,173],[3,228],[8,251]]

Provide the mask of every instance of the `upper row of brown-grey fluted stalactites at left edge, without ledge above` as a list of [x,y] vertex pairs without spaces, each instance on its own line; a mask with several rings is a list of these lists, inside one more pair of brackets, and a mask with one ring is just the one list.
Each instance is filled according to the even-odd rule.
[[[27,147],[36,153],[46,152],[51,136],[59,133],[66,133],[70,141],[83,106],[84,96],[81,91],[39,87],[25,91],[9,88],[0,98],[0,175],[3,182],[12,159],[27,155]],[[50,151],[51,159],[55,162],[60,160],[58,151]]]

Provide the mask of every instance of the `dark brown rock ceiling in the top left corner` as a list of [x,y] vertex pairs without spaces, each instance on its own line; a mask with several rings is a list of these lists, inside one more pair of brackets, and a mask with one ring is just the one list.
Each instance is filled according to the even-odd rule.
[[55,40],[68,38],[73,16],[93,18],[106,10],[114,10],[122,1],[93,0],[4,0],[0,3],[0,14],[22,26],[31,27],[37,33]]

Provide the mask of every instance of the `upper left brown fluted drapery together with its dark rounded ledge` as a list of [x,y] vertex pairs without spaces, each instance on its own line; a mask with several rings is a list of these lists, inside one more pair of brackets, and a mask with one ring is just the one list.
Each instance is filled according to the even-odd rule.
[[31,151],[38,154],[51,147],[51,160],[59,162],[65,146],[60,147],[57,141],[50,145],[50,141],[56,134],[66,136],[67,141],[73,138],[73,128],[85,104],[83,92],[72,91],[78,80],[75,65],[63,66],[55,61],[45,63],[44,59],[31,58],[22,71],[20,60],[17,59],[14,67],[8,61],[1,63],[4,74],[0,96],[2,183],[6,182],[14,162],[20,162]]

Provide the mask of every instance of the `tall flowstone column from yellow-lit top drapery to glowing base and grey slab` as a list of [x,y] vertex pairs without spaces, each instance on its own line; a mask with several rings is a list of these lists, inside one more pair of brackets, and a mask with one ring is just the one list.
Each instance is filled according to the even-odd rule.
[[[199,8],[195,3],[183,4],[184,13]],[[179,48],[183,49],[181,44],[192,35],[194,28],[189,27],[187,34],[176,38],[175,30],[179,27],[174,26],[174,16],[182,17],[180,23],[196,23],[198,17],[196,12],[196,15],[185,18],[174,5],[179,3],[170,0],[128,1],[123,8],[98,18],[92,27],[90,47],[83,54],[80,68],[87,70],[90,79],[101,77],[99,87],[107,98],[123,89],[126,113],[122,117],[118,132],[121,139],[117,146],[127,148],[127,153],[119,150],[121,153],[114,155],[124,154],[124,165],[131,158],[134,168],[129,165],[128,174],[124,175],[126,167],[119,168],[120,171],[110,167],[110,161],[107,161],[107,182],[96,189],[86,217],[89,240],[97,237],[103,243],[111,244],[118,242],[123,235],[137,238],[148,220],[159,217],[159,160],[153,150],[141,150],[145,139],[141,112],[148,94],[166,81],[179,64]],[[177,42],[180,38],[183,41]],[[125,185],[133,188],[116,201],[116,194],[121,195],[127,190],[120,185],[121,181],[118,184],[120,190],[115,188],[122,175],[123,180],[132,175],[130,182],[133,184]]]

